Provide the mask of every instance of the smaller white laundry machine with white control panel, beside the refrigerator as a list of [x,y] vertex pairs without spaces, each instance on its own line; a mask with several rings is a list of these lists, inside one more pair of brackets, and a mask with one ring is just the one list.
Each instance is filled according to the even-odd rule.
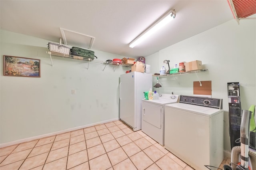
[[179,95],[162,94],[158,100],[142,100],[141,130],[164,145],[164,105],[177,103]]

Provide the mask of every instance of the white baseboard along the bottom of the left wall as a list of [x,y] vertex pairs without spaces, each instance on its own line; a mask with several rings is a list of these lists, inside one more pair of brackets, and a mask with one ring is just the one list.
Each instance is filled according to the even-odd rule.
[[33,137],[30,137],[30,138],[24,138],[24,139],[20,139],[20,140],[15,140],[15,141],[12,141],[12,142],[6,142],[6,143],[0,144],[0,148],[6,147],[6,146],[11,146],[11,145],[14,145],[14,144],[23,143],[23,142],[32,141],[32,140],[36,140],[36,139],[40,139],[40,138],[45,138],[45,137],[48,137],[48,136],[53,136],[53,135],[57,135],[57,134],[65,133],[65,132],[70,132],[70,131],[78,130],[78,129],[81,129],[81,128],[91,127],[91,126],[99,125],[99,124],[102,124],[102,123],[118,121],[118,120],[120,120],[120,119],[119,118],[115,118],[115,119],[110,119],[110,120],[107,120],[107,121],[92,123],[92,124],[89,124],[89,125],[83,125],[83,126],[79,126],[79,127],[74,127],[74,128],[68,128],[68,129],[65,129],[65,130],[60,130],[60,131],[57,131],[57,132],[51,132],[51,133],[47,133],[47,134],[33,136]]

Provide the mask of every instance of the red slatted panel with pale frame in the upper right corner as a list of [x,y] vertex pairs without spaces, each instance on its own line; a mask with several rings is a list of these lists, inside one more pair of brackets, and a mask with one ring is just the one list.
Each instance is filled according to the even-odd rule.
[[228,2],[238,24],[241,19],[255,19],[247,17],[256,14],[256,0],[228,0]]

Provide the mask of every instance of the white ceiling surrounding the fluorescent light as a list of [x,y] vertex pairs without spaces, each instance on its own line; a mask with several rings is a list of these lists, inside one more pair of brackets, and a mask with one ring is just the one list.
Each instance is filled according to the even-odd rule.
[[[170,9],[174,20],[129,47]],[[59,42],[64,28],[95,37],[92,49],[127,57],[148,56],[234,20],[227,0],[0,0],[0,15],[2,30]]]

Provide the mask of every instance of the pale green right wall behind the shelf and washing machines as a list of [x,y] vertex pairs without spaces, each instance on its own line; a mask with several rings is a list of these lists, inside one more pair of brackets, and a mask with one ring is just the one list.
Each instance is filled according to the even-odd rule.
[[[188,28],[189,29],[189,28]],[[165,59],[170,67],[201,60],[207,72],[160,78],[158,93],[193,95],[193,81],[212,81],[212,97],[223,99],[224,150],[230,151],[228,82],[240,82],[242,109],[256,104],[256,20],[231,20],[159,51],[159,70]],[[151,57],[151,56],[149,56]],[[146,57],[146,61],[148,57]],[[155,61],[148,64],[154,65]],[[168,66],[165,65],[167,68]],[[154,73],[154,72],[152,72]],[[177,80],[176,80],[176,79]]]

